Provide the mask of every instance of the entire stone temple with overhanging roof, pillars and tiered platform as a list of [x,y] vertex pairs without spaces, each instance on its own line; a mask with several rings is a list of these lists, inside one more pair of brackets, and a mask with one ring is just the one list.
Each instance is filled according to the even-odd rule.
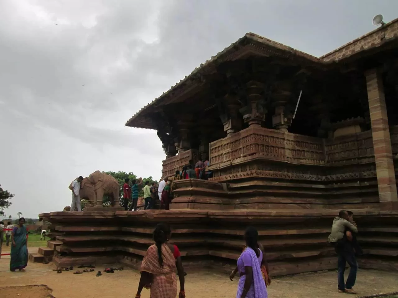
[[347,209],[360,267],[398,269],[397,48],[398,19],[319,58],[247,33],[126,123],[157,131],[163,177],[208,159],[212,178],[175,182],[170,210],[41,214],[52,240],[31,259],[137,268],[168,222],[185,267],[229,273],[252,225],[271,275],[336,269]]

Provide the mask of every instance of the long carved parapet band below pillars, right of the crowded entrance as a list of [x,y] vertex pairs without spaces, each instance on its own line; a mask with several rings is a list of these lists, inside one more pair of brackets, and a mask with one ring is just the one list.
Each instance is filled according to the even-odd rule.
[[371,163],[374,162],[372,134],[367,131],[322,139],[249,127],[210,143],[210,170],[215,172],[253,159],[318,166]]

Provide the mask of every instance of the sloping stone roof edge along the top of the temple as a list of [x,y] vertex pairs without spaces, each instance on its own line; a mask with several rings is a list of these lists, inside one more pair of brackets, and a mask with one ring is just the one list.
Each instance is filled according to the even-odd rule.
[[[340,48],[333,50],[332,52],[325,54],[321,57],[315,57],[302,51],[296,50],[290,46],[283,45],[271,39],[261,37],[254,33],[246,33],[244,37],[238,39],[235,43],[224,48],[217,55],[212,56],[205,63],[195,68],[191,74],[185,76],[184,79],[177,82],[168,91],[164,92],[160,97],[154,99],[152,102],[146,104],[141,108],[134,116],[132,116],[127,122],[126,126],[139,127],[154,129],[150,119],[145,119],[145,111],[150,106],[162,104],[162,102],[169,96],[174,96],[174,93],[178,89],[187,87],[188,81],[192,80],[196,74],[211,73],[215,72],[215,66],[225,61],[232,61],[239,56],[242,56],[244,52],[253,52],[259,56],[279,56],[284,58],[290,58],[291,60],[301,60],[305,64],[318,67],[326,67],[326,65],[333,62],[339,62],[349,56],[353,56],[361,51],[375,48],[383,45],[384,43],[398,38],[398,18],[393,21],[380,26],[377,29],[359,37]],[[244,50],[242,50],[244,48]],[[142,117],[141,117],[142,116]],[[140,117],[140,120],[137,118]],[[138,120],[138,121],[137,121]],[[137,122],[137,123],[134,123]]]

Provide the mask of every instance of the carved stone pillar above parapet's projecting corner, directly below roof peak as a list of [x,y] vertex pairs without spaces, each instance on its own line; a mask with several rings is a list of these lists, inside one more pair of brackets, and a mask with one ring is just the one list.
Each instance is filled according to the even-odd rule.
[[264,108],[264,84],[257,81],[246,83],[248,105],[240,109],[243,120],[249,126],[261,126],[267,110]]

